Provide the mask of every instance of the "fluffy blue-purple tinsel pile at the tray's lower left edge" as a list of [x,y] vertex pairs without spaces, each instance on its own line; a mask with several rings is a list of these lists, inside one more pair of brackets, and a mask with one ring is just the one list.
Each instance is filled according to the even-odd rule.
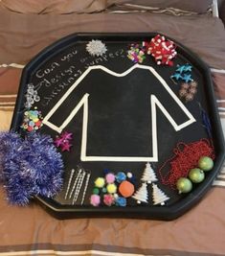
[[12,204],[25,205],[36,195],[52,198],[62,186],[63,162],[49,135],[0,134],[0,176]]

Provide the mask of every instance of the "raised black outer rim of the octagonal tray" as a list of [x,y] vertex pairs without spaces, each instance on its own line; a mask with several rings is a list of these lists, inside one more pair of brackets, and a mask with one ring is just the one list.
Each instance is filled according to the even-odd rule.
[[[45,47],[42,51],[40,51],[34,58],[29,61],[29,63],[24,67],[20,84],[18,90],[18,97],[16,99],[16,105],[14,108],[14,112],[11,119],[11,130],[15,130],[18,124],[18,113],[20,112],[20,105],[22,104],[22,91],[23,86],[26,84],[26,81],[29,77],[29,72],[32,72],[34,66],[41,64],[42,61],[46,60],[46,56],[50,55],[52,52],[55,52],[56,49],[62,46],[71,40],[75,41],[77,38],[79,40],[84,40],[84,38],[92,39],[94,38],[126,38],[126,40],[132,40],[132,37],[137,38],[141,37],[153,37],[154,35],[163,35],[157,32],[149,32],[149,33],[75,33],[72,35],[67,35],[65,37],[59,38],[56,42],[50,44]],[[126,206],[126,207],[87,207],[87,206],[70,206],[70,205],[60,205],[56,203],[56,201],[36,196],[35,200],[42,205],[52,216],[56,219],[71,219],[71,218],[86,218],[86,217],[113,217],[113,218],[129,218],[129,219],[151,219],[151,220],[164,220],[170,221],[174,220],[188,210],[190,210],[205,194],[210,190],[211,185],[214,181],[215,175],[220,171],[222,164],[225,159],[225,142],[223,131],[218,115],[218,110],[215,103],[214,96],[214,87],[213,80],[210,73],[209,66],[196,54],[192,53],[190,49],[188,49],[183,44],[174,40],[173,38],[165,35],[168,39],[175,42],[179,50],[185,53],[188,53],[189,58],[192,61],[195,61],[198,66],[200,66],[201,70],[204,72],[204,79],[207,81],[207,90],[210,95],[210,105],[211,112],[214,115],[211,117],[212,123],[214,123],[214,144],[215,148],[219,151],[216,154],[216,162],[214,165],[214,172],[207,176],[205,182],[198,185],[197,188],[194,189],[189,195],[181,200],[175,202],[169,206]],[[129,37],[127,39],[127,37]],[[87,39],[86,39],[87,40]],[[143,40],[143,39],[140,39]],[[50,55],[51,56],[51,55]],[[207,182],[206,182],[207,181]],[[70,206],[70,207],[69,207]],[[149,210],[150,209],[150,210]]]

